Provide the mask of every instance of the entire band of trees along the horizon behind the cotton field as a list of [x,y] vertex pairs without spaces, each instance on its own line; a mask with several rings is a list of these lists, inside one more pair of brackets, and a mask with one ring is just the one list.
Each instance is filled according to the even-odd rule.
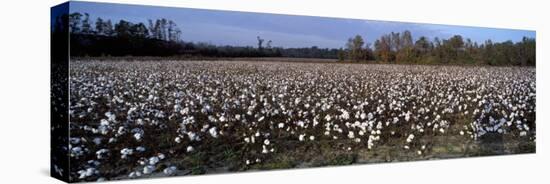
[[[534,66],[536,42],[524,37],[519,42],[473,42],[455,35],[449,39],[419,37],[410,31],[391,32],[369,44],[360,35],[353,36],[340,49],[272,47],[272,40],[256,36],[257,45],[220,46],[187,42],[172,20],[143,22],[109,19],[90,20],[88,13],[57,17],[52,37],[70,34],[70,55],[97,56],[181,56],[181,57],[293,57],[338,59],[346,62],[382,62],[406,64],[478,64]],[[68,26],[68,27],[65,27]],[[251,35],[254,36],[254,35]]]

